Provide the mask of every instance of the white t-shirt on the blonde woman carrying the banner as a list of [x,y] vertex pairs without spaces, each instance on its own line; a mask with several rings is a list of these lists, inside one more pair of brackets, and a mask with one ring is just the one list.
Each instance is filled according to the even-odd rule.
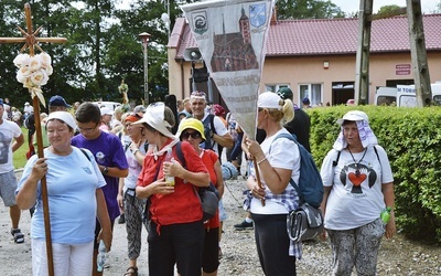
[[[282,128],[277,134],[271,137],[267,137],[262,144],[260,145],[265,156],[268,159],[268,162],[271,164],[272,168],[280,168],[280,169],[288,169],[292,170],[291,178],[294,180],[295,183],[299,183],[300,177],[300,151],[299,147],[295,145],[294,141],[291,141],[286,138],[279,138],[272,142],[272,140],[279,135],[288,132],[287,129]],[[269,149],[271,147],[271,152]],[[254,168],[251,169],[251,173],[255,176]],[[267,183],[260,173],[260,181],[262,185],[266,188],[266,193],[271,194],[271,191],[267,187]],[[291,183],[288,182],[286,190],[294,190]],[[288,209],[280,202],[280,200],[270,199],[266,200],[265,206],[262,206],[259,199],[252,198],[251,213],[255,214],[288,214]]]

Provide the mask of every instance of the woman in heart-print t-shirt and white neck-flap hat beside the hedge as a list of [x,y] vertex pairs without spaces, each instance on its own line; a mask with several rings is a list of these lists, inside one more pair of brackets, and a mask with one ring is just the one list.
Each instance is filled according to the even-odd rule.
[[[348,112],[337,124],[341,132],[321,168],[321,209],[333,254],[332,275],[351,275],[354,266],[358,275],[376,275],[381,237],[396,233],[394,176],[364,112]],[[383,221],[386,208],[390,208],[386,215],[390,219]]]

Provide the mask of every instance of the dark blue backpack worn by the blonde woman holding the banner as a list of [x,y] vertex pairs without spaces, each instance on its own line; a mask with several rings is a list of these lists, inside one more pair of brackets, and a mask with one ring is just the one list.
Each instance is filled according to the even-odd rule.
[[[323,182],[320,171],[315,166],[314,159],[311,153],[297,141],[295,136],[290,134],[280,134],[273,140],[279,138],[287,138],[294,141],[299,147],[300,152],[300,177],[299,183],[295,183],[290,179],[290,183],[294,187],[297,193],[299,194],[300,203],[302,205],[304,202],[314,208],[320,208],[323,200]],[[271,148],[270,148],[271,150]]]

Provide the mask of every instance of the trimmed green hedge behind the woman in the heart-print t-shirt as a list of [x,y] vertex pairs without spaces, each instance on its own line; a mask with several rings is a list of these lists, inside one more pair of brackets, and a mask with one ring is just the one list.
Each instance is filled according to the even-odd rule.
[[363,110],[394,172],[397,230],[441,244],[441,107],[336,106],[308,109],[311,151],[320,167],[348,110]]

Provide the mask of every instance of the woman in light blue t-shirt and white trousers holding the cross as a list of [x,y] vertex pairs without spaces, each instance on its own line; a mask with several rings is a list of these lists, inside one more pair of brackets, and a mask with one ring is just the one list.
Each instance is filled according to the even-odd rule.
[[101,187],[106,184],[90,151],[71,146],[76,124],[66,112],[47,117],[50,147],[44,158],[32,156],[17,189],[21,210],[32,208],[32,270],[47,275],[41,179],[45,176],[51,213],[55,275],[92,275],[95,222],[103,226],[100,238],[111,246],[111,227]]

